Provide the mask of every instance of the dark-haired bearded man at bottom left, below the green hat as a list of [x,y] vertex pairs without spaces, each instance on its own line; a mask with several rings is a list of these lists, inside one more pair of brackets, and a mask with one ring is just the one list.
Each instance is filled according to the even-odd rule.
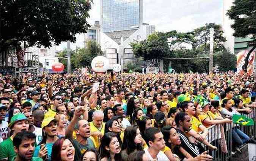
[[24,131],[13,138],[14,152],[17,154],[12,161],[43,161],[42,158],[33,157],[35,150],[35,134]]

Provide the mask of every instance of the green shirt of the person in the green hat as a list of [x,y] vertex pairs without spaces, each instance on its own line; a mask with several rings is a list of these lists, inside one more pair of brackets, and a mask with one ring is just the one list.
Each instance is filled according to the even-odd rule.
[[8,159],[11,161],[15,156],[16,153],[14,152],[13,140],[9,137],[0,144],[0,160]]

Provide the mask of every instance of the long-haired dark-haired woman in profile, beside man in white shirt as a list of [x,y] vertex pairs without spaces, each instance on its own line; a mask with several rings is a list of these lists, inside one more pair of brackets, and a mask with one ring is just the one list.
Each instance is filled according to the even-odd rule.
[[141,146],[142,137],[138,125],[128,126],[124,131],[124,142],[122,144],[121,156],[123,160],[127,160],[128,155],[137,150],[143,150]]

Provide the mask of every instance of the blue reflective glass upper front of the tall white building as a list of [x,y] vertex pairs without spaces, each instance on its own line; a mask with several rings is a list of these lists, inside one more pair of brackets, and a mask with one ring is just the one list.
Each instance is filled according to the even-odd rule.
[[103,33],[138,29],[140,25],[139,0],[103,0]]

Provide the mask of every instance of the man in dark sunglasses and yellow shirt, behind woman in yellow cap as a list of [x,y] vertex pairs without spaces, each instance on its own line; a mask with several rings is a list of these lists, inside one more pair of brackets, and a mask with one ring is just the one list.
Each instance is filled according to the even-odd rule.
[[46,118],[54,118],[56,115],[56,109],[58,106],[62,104],[63,100],[60,94],[55,94],[52,98],[51,108],[48,109],[48,112],[44,115],[44,119]]

